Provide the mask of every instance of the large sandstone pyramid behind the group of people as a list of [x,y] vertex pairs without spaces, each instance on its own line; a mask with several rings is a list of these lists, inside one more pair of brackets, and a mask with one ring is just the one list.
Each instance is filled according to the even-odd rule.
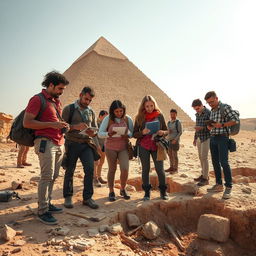
[[82,88],[89,85],[95,90],[91,106],[96,115],[102,109],[108,111],[111,102],[118,99],[126,105],[127,114],[134,119],[142,98],[152,95],[166,121],[170,109],[175,108],[183,126],[193,126],[191,118],[104,37],[88,48],[64,75],[70,82],[61,96],[64,106],[73,103]]

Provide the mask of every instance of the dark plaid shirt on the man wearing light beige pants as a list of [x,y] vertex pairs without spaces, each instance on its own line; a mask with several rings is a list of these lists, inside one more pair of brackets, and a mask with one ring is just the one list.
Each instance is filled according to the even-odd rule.
[[211,111],[206,107],[204,107],[202,113],[196,113],[196,126],[204,127],[204,129],[195,132],[195,140],[199,138],[203,142],[210,138],[210,131],[205,123],[206,120],[210,119],[210,113]]

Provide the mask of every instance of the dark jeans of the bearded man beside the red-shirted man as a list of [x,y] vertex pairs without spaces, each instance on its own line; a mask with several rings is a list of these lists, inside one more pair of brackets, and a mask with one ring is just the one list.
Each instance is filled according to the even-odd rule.
[[64,177],[63,196],[73,196],[73,176],[78,158],[84,168],[84,190],[83,200],[87,200],[93,195],[93,173],[94,157],[93,150],[87,143],[72,142],[66,146],[67,168]]

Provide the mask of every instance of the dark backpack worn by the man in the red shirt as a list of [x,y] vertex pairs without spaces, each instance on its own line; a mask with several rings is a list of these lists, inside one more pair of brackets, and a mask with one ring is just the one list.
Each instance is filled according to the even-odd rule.
[[[41,100],[41,107],[38,115],[35,118],[39,120],[46,108],[46,99],[42,93],[36,94],[35,96],[39,96]],[[20,114],[14,119],[9,136],[11,140],[13,140],[19,145],[32,147],[34,146],[35,131],[33,129],[25,128],[23,126],[24,115],[25,109],[22,110]]]

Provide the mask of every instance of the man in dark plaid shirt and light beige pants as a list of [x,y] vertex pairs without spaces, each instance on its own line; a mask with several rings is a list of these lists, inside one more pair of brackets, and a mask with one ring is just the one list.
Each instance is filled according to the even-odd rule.
[[198,186],[209,184],[209,163],[208,153],[210,147],[210,132],[207,128],[206,121],[210,119],[211,111],[206,108],[200,99],[192,102],[192,107],[196,111],[196,126],[193,145],[197,146],[198,156],[201,163],[201,175],[195,178]]

